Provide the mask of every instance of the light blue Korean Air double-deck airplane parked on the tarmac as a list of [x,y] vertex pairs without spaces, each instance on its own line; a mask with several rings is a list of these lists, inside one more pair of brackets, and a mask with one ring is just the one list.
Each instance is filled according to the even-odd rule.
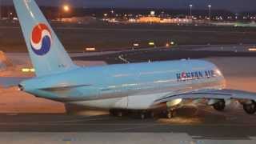
[[110,110],[122,116],[130,110],[140,118],[161,109],[166,118],[187,103],[203,102],[222,111],[239,102],[247,114],[256,111],[256,94],[226,90],[222,72],[211,62],[176,60],[107,66],[74,65],[34,0],[14,0],[35,78],[19,82],[19,90],[63,102]]

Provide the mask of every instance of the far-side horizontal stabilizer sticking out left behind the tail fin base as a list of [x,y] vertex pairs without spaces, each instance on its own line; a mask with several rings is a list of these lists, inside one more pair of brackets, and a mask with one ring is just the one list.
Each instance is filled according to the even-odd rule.
[[10,86],[18,86],[18,84],[26,79],[30,78],[20,78],[20,77],[0,77],[0,86],[2,87],[10,87]]

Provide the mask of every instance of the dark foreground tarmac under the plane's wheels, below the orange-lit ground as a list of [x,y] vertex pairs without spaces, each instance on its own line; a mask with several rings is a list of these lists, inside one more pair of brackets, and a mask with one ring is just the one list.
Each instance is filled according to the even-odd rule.
[[[235,107],[235,106],[234,106]],[[173,119],[114,118],[107,114],[0,114],[6,143],[254,143],[255,115],[188,106]]]

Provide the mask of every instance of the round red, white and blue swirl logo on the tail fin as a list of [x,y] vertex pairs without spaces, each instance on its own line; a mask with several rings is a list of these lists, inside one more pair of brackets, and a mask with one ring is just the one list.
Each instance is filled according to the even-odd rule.
[[52,44],[52,36],[49,27],[43,23],[34,26],[30,43],[35,54],[41,56],[47,54]]

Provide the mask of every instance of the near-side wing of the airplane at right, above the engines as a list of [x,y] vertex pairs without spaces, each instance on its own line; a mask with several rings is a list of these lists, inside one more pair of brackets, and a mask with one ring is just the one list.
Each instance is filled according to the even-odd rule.
[[171,94],[169,96],[157,99],[154,104],[159,104],[162,102],[169,102],[174,99],[196,99],[196,98],[206,98],[206,99],[249,99],[256,102],[256,93],[251,93],[242,90],[195,90],[180,94]]

